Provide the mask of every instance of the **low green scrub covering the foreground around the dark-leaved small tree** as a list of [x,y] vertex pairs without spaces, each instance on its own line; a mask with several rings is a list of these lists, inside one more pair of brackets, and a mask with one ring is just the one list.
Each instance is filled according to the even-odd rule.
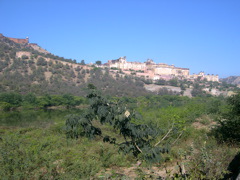
[[[38,123],[25,127],[2,125],[0,175],[3,179],[229,178],[239,171],[239,96],[227,101],[222,97],[190,99],[152,95],[107,98],[111,102],[121,100],[129,112],[139,112],[142,118],[133,118],[131,123],[161,130],[155,140],[163,139],[160,145],[168,146],[169,151],[151,166],[146,156],[119,151],[117,143],[106,139],[103,142],[103,136],[89,139],[81,133],[81,127],[78,138],[67,138],[69,129],[65,121],[69,116],[52,117],[52,123],[42,126]],[[85,98],[80,99],[86,102]],[[87,109],[74,116],[83,116],[86,112]],[[103,135],[109,136],[108,140],[114,137],[124,141],[111,124],[92,119],[92,125],[101,128]],[[181,129],[180,133],[176,134],[172,127]],[[234,157],[236,164],[232,161]]]

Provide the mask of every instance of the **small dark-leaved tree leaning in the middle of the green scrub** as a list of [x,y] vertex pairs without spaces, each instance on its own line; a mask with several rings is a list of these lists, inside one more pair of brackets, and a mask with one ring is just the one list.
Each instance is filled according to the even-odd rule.
[[[176,132],[173,126],[163,135],[163,131],[152,124],[141,124],[139,114],[130,111],[121,102],[112,102],[102,97],[94,85],[88,86],[90,93],[87,95],[90,107],[83,115],[69,115],[66,120],[66,135],[68,138],[78,138],[81,135],[88,138],[100,136],[104,142],[115,144],[125,154],[132,153],[135,157],[147,162],[159,162],[161,153],[169,151],[167,139],[170,133]],[[100,127],[95,127],[93,121],[111,125],[115,131],[123,136],[124,141],[118,142],[116,137],[111,137],[103,132]],[[105,134],[103,136],[103,134]],[[160,140],[158,139],[160,136]],[[160,147],[162,145],[162,147]]]

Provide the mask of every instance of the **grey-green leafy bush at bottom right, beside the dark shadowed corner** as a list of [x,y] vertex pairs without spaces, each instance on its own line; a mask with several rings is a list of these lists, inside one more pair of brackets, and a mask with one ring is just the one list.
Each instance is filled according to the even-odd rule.
[[225,179],[235,151],[226,146],[219,147],[215,141],[208,141],[192,145],[189,149],[190,161],[186,164],[189,179]]

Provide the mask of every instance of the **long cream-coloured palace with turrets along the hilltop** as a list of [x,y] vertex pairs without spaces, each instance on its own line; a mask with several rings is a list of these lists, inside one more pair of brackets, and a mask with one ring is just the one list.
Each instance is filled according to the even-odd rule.
[[104,66],[112,69],[121,69],[126,74],[134,74],[136,76],[152,80],[170,80],[172,78],[178,78],[188,80],[206,79],[207,81],[219,81],[218,75],[205,75],[204,72],[190,75],[188,68],[175,67],[174,65],[167,65],[164,63],[156,64],[151,59],[148,59],[144,63],[140,63],[127,62],[126,57],[120,57],[117,60],[109,60],[106,64],[104,64]]

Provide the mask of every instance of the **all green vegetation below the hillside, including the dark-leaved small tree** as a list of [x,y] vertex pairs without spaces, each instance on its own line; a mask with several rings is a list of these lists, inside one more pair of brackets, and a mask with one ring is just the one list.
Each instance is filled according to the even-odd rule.
[[[2,102],[11,102],[16,106],[19,103],[23,106],[26,102],[35,104],[49,99],[51,103],[59,102],[59,99],[71,101],[69,97],[39,97],[33,94],[1,97]],[[12,100],[3,97],[12,97]],[[74,97],[75,100],[78,98]],[[229,164],[239,153],[239,145],[229,139],[227,142],[226,139],[219,141],[225,132],[220,129],[217,133],[222,136],[215,136],[216,131],[212,131],[211,127],[218,119],[225,118],[225,115],[230,117],[234,113],[231,117],[239,116],[239,94],[228,100],[222,97],[188,98],[173,95],[106,98],[94,89],[88,98],[89,102],[80,99],[89,104],[89,109],[84,108],[80,112],[65,110],[64,113],[55,110],[55,115],[44,115],[46,120],[30,112],[21,115],[22,118],[14,115],[14,111],[9,112],[18,119],[15,125],[6,123],[11,118],[8,113],[1,112],[5,113],[0,116],[1,119],[6,116],[4,121],[0,121],[1,177],[221,179],[233,173]],[[70,113],[72,115],[65,117]],[[27,114],[29,115],[26,116]],[[20,127],[19,121],[31,118],[36,121],[27,123],[31,121],[26,120]],[[154,129],[159,132],[154,133]],[[66,134],[73,139],[67,138]],[[150,134],[151,136],[144,137]],[[239,134],[234,134],[231,138],[236,135],[239,138]],[[157,151],[154,152],[156,156],[152,156],[152,153],[145,156],[145,153],[152,152],[151,147],[155,147],[158,142],[159,147],[167,147],[169,151],[161,153],[160,159]],[[148,150],[145,151],[145,148]],[[155,163],[149,167],[147,162],[151,159]],[[132,169],[133,173],[129,174],[128,169]]]

